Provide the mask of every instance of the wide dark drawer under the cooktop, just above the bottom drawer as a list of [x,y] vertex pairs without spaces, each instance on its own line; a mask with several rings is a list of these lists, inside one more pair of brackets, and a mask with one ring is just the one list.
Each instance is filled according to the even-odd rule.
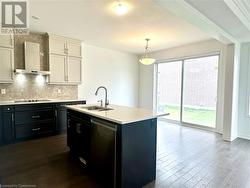
[[53,110],[24,111],[15,113],[15,124],[37,123],[40,121],[54,120]]

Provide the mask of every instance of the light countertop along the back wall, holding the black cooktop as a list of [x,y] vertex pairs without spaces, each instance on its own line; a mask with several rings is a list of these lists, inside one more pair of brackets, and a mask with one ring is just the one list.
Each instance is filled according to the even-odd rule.
[[46,104],[46,103],[63,103],[63,102],[77,102],[85,101],[84,99],[47,99],[47,101],[38,102],[15,102],[15,101],[0,101],[0,106],[6,105],[23,105],[23,104]]

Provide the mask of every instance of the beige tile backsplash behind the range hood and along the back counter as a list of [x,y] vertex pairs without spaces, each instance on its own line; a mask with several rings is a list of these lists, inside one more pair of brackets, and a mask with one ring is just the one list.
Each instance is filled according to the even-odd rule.
[[[24,68],[24,42],[37,42],[43,56],[40,59],[41,70],[48,70],[47,37],[43,33],[30,33],[29,35],[15,36],[15,68]],[[14,83],[0,83],[0,90],[5,89],[6,93],[1,94],[0,101],[17,99],[77,99],[77,85],[50,85],[43,82],[45,77],[37,78],[36,75],[14,75]]]

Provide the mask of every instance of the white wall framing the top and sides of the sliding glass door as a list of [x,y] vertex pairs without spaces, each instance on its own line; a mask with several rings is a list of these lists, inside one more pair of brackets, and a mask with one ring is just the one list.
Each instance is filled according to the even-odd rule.
[[[217,40],[208,40],[181,47],[166,49],[152,53],[152,56],[158,62],[164,60],[175,60],[185,57],[199,56],[220,53],[219,62],[219,81],[218,81],[218,98],[217,98],[217,131],[223,132],[224,117],[224,87],[225,87],[225,65],[227,59],[227,46]],[[140,65],[140,90],[139,90],[139,106],[153,109],[154,108],[154,84],[155,70],[154,66]],[[227,99],[229,100],[229,99]]]

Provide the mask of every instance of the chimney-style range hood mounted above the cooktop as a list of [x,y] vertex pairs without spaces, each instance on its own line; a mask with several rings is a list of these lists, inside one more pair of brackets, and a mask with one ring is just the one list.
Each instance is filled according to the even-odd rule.
[[16,69],[15,73],[49,75],[49,71],[40,68],[40,44],[24,42],[25,69]]

